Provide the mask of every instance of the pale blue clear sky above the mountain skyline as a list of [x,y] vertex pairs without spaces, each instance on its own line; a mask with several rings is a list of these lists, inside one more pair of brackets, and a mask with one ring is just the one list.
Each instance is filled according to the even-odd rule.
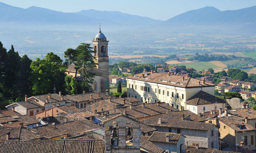
[[38,6],[61,12],[89,9],[120,11],[160,20],[167,20],[205,6],[213,6],[225,11],[256,5],[256,0],[0,0],[0,2],[22,8]]

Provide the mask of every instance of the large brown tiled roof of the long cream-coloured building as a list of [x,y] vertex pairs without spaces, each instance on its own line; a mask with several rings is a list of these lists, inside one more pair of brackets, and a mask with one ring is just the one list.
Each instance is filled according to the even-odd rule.
[[[159,83],[159,84],[165,84],[170,86],[177,86],[177,87],[205,87],[205,86],[215,86],[214,84],[205,82],[203,84],[203,81],[190,78],[190,77],[184,77],[179,75],[170,75],[165,73],[153,73],[147,72],[147,75],[145,75],[145,78],[142,78],[142,74],[134,74],[127,79],[134,79],[134,80],[140,80],[145,82],[152,82],[152,83]],[[184,81],[183,81],[184,77]],[[200,82],[200,84],[199,84]]]

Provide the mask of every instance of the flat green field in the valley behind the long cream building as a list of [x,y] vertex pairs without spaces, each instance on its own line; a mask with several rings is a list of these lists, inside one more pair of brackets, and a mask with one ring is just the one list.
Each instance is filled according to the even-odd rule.
[[177,64],[179,66],[185,65],[186,67],[192,67],[196,70],[207,70],[209,68],[215,69],[215,68],[220,68],[216,65],[213,65],[212,63],[209,62],[191,62],[191,63],[181,63]]

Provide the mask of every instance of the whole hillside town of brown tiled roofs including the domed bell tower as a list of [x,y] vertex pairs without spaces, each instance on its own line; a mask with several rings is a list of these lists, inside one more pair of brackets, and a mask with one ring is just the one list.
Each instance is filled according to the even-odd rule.
[[[109,76],[108,40],[93,43],[97,74],[93,90],[27,96],[0,111],[0,152],[74,153],[252,153],[256,150],[255,83],[178,65],[128,77]],[[132,68],[119,68],[131,73]],[[155,71],[157,70],[157,71]],[[205,74],[200,79],[191,72]],[[81,78],[74,65],[66,74]],[[110,85],[126,84],[126,97]],[[216,97],[238,92],[239,98]]]

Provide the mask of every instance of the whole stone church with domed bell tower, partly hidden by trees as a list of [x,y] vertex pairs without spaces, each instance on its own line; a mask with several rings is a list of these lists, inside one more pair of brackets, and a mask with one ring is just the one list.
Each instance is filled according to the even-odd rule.
[[[106,37],[99,33],[94,37],[93,42],[93,56],[96,57],[95,62],[98,64],[96,68],[90,70],[90,72],[96,74],[94,78],[94,84],[90,84],[93,88],[93,92],[103,92],[109,90],[109,56],[108,56],[108,44],[109,41],[106,40]],[[66,70],[67,75],[75,76],[75,66],[69,65]],[[80,74],[77,74],[77,77],[80,77]]]

